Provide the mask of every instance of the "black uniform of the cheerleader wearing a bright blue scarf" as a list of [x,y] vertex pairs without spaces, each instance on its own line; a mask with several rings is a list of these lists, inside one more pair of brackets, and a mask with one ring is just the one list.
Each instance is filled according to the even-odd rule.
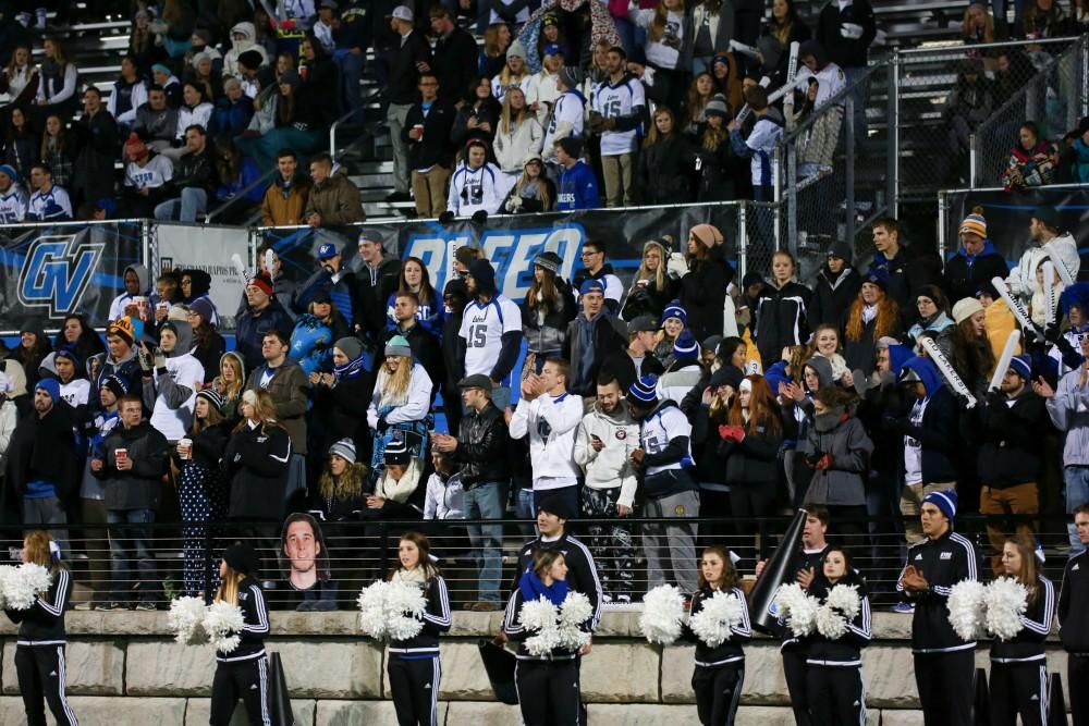
[[[533,655],[526,650],[526,639],[535,633],[522,626],[524,602],[522,588],[515,588],[503,616],[503,632],[518,643],[514,686],[522,722],[524,726],[579,726],[583,722],[578,653],[556,648],[547,655]],[[588,628],[589,623],[583,627]]]

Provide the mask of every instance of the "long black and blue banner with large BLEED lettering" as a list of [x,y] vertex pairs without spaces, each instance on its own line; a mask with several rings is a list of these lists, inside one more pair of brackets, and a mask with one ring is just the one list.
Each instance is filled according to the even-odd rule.
[[688,230],[702,222],[722,231],[727,259],[734,259],[737,207],[730,205],[493,217],[484,225],[468,220],[445,226],[437,222],[407,222],[364,224],[340,231],[267,229],[261,234],[280,255],[283,274],[297,283],[316,280],[318,247],[326,242],[340,245],[345,264],[353,270],[360,269],[363,261],[356,255],[359,231],[381,239],[389,254],[421,259],[436,290],[442,290],[453,274],[454,250],[461,245],[477,245],[494,266],[500,291],[512,300],[522,302],[533,281],[534,257],[542,251],[558,254],[563,259],[562,275],[571,279],[572,272],[580,267],[583,244],[602,243],[609,262],[626,286],[639,267],[646,242],[668,235],[674,241],[673,251],[684,253]]

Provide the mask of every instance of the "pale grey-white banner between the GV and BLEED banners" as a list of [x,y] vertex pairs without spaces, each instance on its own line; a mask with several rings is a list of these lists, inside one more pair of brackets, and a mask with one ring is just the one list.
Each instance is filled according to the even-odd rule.
[[237,255],[247,266],[253,263],[249,230],[205,225],[195,233],[192,226],[159,224],[156,229],[159,269],[155,272],[194,269],[207,272],[211,275],[210,295],[219,313],[219,328],[234,330],[242,287],[231,257]]

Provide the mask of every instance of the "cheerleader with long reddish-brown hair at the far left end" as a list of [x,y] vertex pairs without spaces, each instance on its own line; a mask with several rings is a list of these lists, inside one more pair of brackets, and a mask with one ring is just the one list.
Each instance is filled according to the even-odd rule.
[[79,726],[64,694],[64,611],[72,594],[72,577],[60,563],[59,554],[49,532],[38,529],[26,536],[23,562],[48,567],[52,582],[49,591],[39,594],[29,610],[4,611],[8,619],[19,624],[15,677],[29,726],[46,726],[42,698],[59,726]]

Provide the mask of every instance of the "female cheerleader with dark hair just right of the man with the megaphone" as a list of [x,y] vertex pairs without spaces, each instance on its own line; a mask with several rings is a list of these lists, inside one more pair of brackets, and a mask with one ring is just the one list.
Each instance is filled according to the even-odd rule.
[[847,553],[840,547],[831,547],[824,555],[822,577],[813,581],[810,593],[823,605],[836,585],[858,588],[858,615],[846,623],[846,632],[835,640],[813,631],[806,659],[806,698],[811,723],[851,726],[866,723],[861,649],[873,635],[870,599],[866,580],[852,566]]

